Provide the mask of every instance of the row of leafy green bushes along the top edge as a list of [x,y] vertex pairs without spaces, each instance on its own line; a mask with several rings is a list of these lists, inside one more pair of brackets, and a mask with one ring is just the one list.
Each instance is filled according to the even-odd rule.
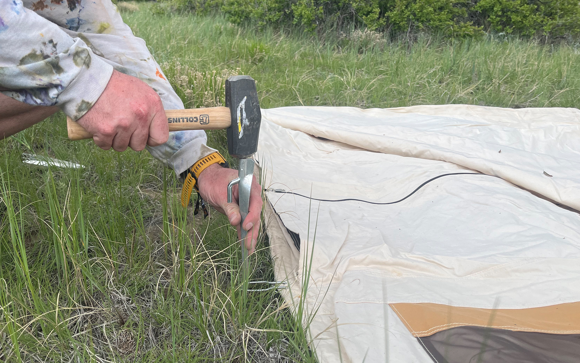
[[[578,0],[166,0],[183,12],[224,12],[235,24],[298,24],[306,31],[364,27],[391,35],[430,31],[477,37],[485,31],[580,33]],[[153,11],[159,12],[160,6]]]

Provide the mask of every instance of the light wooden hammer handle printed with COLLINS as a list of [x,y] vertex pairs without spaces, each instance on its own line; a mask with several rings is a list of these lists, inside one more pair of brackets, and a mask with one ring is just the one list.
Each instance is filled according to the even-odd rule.
[[[187,110],[165,110],[169,131],[227,129],[231,125],[230,109],[227,107],[189,108]],[[71,140],[92,139],[93,135],[78,122],[67,117],[68,138]]]

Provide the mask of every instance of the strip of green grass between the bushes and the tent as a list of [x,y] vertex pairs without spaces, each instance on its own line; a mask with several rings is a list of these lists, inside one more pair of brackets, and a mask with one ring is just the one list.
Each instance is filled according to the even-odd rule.
[[[200,90],[195,72],[219,76],[237,68],[258,82],[263,108],[577,107],[580,99],[580,49],[575,46],[503,35],[462,42],[424,35],[411,44],[358,31],[329,33],[321,40],[290,30],[247,30],[220,17],[151,17],[146,11],[127,13],[125,19],[190,107],[223,100],[211,89]],[[184,75],[185,83],[180,82]],[[192,85],[196,89],[186,96]]]

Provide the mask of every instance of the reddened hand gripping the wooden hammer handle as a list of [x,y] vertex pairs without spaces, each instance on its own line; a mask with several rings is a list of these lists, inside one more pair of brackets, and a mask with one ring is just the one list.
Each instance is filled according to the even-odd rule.
[[161,99],[145,82],[113,71],[107,87],[79,125],[93,134],[95,144],[103,150],[111,146],[125,151],[127,146],[141,151],[148,146],[164,144],[169,126]]

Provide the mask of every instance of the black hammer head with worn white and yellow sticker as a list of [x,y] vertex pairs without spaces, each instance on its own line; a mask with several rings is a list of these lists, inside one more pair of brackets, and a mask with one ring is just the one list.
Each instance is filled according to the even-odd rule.
[[258,150],[262,113],[256,81],[249,75],[234,75],[226,80],[226,107],[231,126],[227,128],[227,148],[234,158],[248,158]]

